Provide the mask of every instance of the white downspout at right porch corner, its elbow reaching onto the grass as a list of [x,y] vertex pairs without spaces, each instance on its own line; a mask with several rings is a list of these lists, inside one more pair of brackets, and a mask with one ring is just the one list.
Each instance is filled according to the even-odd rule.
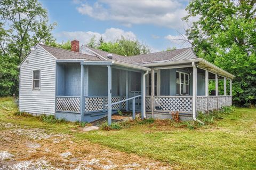
[[196,68],[195,62],[192,62],[192,67],[193,67],[193,98],[192,98],[192,102],[193,102],[192,115],[193,116],[192,117],[193,117],[194,121],[199,122],[204,125],[204,123],[201,120],[196,119],[197,68]]

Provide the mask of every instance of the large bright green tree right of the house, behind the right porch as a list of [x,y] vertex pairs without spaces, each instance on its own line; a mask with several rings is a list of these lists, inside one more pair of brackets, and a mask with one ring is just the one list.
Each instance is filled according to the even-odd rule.
[[184,20],[198,16],[186,30],[196,54],[236,77],[233,81],[237,106],[256,104],[255,0],[192,0]]

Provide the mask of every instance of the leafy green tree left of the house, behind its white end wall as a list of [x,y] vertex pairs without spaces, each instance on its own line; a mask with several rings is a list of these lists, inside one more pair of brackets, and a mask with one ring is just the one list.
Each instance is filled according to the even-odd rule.
[[55,42],[47,11],[36,0],[0,1],[0,96],[18,95],[18,65],[36,43]]

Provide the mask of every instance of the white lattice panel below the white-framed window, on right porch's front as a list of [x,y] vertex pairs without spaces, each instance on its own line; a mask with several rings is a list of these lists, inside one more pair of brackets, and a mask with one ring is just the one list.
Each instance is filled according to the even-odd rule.
[[192,96],[154,96],[154,108],[161,111],[192,112]]

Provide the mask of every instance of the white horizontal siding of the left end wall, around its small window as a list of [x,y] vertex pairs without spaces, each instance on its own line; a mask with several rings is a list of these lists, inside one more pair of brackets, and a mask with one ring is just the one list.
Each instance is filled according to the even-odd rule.
[[[20,66],[19,110],[33,114],[55,113],[55,59],[39,45]],[[33,72],[40,70],[39,87],[33,88]]]

